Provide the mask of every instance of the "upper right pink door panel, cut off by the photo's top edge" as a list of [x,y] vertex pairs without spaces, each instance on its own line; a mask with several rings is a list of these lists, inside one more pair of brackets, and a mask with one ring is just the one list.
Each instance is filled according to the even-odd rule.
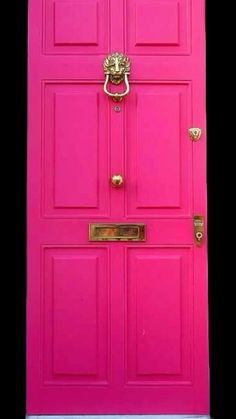
[[189,0],[127,2],[126,41],[129,54],[189,54],[190,27]]

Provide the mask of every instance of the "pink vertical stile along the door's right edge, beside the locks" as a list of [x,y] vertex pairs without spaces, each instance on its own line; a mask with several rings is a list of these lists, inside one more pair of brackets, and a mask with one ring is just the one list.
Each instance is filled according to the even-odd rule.
[[[198,357],[194,365],[196,381],[195,411],[209,404],[208,362],[208,289],[207,289],[207,196],[206,196],[206,115],[205,115],[205,8],[204,1],[192,2],[193,82],[192,115],[193,127],[202,130],[193,147],[193,216],[204,217],[204,238],[200,247],[194,244],[194,345]],[[203,106],[204,104],[204,106]],[[191,141],[191,140],[190,140]]]

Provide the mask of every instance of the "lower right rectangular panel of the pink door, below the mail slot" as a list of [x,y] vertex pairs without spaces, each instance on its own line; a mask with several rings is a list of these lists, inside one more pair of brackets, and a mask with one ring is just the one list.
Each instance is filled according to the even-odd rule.
[[192,247],[129,247],[126,285],[128,384],[190,384]]

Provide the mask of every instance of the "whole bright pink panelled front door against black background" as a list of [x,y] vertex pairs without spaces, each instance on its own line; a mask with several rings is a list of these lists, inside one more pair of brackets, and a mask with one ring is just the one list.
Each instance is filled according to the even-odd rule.
[[28,80],[27,413],[206,414],[204,1],[31,0]]

